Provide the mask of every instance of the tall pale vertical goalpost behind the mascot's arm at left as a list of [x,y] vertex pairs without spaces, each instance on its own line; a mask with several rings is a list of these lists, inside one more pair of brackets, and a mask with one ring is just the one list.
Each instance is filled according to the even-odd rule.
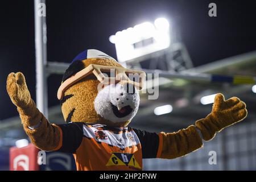
[[34,0],[36,51],[36,105],[48,118],[46,1]]

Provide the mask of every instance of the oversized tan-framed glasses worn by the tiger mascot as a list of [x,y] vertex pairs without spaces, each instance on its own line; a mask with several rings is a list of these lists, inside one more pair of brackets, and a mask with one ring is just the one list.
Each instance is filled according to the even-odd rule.
[[108,85],[117,82],[122,84],[127,83],[134,85],[138,90],[143,88],[143,82],[146,77],[145,72],[135,69],[90,64],[60,85],[57,92],[57,98],[59,100],[63,99],[65,90],[90,74],[94,74],[102,84]]

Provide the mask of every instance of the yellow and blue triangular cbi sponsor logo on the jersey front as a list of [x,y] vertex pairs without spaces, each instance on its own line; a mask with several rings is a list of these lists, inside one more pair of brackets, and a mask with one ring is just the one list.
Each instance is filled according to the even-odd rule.
[[110,156],[109,162],[106,166],[129,166],[141,169],[141,166],[139,166],[134,154],[129,153],[112,152],[112,156]]

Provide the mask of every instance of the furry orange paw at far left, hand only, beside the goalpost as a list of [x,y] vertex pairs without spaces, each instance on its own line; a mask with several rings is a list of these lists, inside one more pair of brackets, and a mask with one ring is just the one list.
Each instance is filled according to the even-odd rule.
[[17,107],[26,109],[31,102],[30,92],[24,75],[21,72],[10,73],[6,81],[6,89],[11,101]]

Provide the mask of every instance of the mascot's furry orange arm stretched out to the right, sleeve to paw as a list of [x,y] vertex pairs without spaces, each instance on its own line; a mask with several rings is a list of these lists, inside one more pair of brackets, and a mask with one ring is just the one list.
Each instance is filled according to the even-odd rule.
[[176,133],[160,133],[158,158],[173,159],[203,146],[205,141],[212,139],[217,132],[225,127],[242,121],[247,115],[246,105],[237,97],[225,101],[222,94],[217,94],[212,112],[206,118],[196,121]]

